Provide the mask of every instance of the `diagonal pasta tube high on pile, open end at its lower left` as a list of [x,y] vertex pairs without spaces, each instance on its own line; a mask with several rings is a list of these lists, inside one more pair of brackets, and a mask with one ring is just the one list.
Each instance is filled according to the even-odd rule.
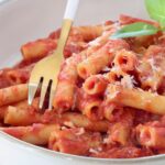
[[[123,40],[111,40],[95,54],[82,61],[77,66],[78,75],[86,79],[91,75],[99,74],[108,66],[119,50],[129,48],[129,45]],[[95,65],[94,65],[95,64]]]

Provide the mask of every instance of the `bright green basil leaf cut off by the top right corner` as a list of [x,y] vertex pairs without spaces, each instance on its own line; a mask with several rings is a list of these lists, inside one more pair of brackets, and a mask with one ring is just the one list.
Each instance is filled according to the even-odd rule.
[[145,0],[150,18],[160,22],[165,28],[165,0]]

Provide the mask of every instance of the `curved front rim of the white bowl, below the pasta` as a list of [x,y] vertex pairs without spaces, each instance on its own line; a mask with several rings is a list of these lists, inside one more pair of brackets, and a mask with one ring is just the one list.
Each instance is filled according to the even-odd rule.
[[[161,155],[153,155],[153,156],[145,156],[145,157],[138,157],[138,158],[97,158],[97,157],[87,157],[87,156],[78,156],[78,155],[72,155],[72,154],[66,154],[66,153],[61,153],[61,152],[56,152],[56,151],[52,151],[48,148],[44,148],[28,142],[24,142],[22,140],[19,140],[14,136],[9,135],[6,132],[0,131],[0,136],[6,139],[7,141],[14,143],[15,145],[18,144],[18,146],[23,147],[24,150],[31,148],[30,151],[34,151],[37,152],[40,154],[45,154],[47,156],[51,157],[57,157],[58,158],[65,158],[65,160],[70,160],[73,161],[73,158],[75,160],[81,160],[84,162],[99,162],[99,163],[105,163],[105,162],[111,162],[114,164],[132,164],[132,163],[142,163],[142,162],[148,162],[148,161],[160,161],[160,160],[164,160],[165,161],[165,154],[161,154]],[[25,147],[24,147],[25,146]]]

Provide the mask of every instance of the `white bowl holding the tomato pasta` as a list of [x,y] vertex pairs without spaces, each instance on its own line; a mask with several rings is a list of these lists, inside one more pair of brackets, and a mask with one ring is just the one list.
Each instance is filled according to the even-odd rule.
[[[20,45],[44,37],[61,25],[66,1],[8,0],[0,6],[0,67],[20,58]],[[143,0],[81,0],[76,24],[117,19],[120,13],[147,18]],[[99,160],[56,153],[0,133],[0,165],[163,165],[165,156]]]

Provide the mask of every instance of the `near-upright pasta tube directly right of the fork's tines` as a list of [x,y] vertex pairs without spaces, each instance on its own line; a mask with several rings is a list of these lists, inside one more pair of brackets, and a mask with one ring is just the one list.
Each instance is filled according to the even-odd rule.
[[75,55],[68,58],[62,66],[54,97],[54,108],[58,112],[67,111],[74,105],[75,88],[78,78],[76,67],[79,61],[80,57]]

